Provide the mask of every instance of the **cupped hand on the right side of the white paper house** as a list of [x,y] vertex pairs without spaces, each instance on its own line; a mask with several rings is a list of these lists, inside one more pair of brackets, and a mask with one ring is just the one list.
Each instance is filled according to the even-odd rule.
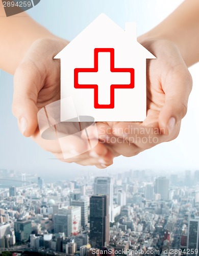
[[98,123],[101,142],[115,156],[135,156],[161,142],[175,139],[187,112],[191,75],[178,48],[167,40],[143,40],[157,59],[147,60],[147,117],[143,123]]

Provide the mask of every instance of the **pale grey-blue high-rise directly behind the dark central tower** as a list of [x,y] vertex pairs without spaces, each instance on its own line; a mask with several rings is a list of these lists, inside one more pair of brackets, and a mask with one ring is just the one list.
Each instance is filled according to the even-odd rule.
[[98,194],[109,196],[109,221],[114,222],[113,181],[111,177],[95,177],[94,195]]

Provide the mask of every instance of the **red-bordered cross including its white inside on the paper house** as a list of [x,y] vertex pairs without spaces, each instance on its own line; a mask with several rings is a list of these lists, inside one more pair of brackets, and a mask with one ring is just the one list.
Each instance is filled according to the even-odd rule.
[[[114,81],[114,84],[109,84],[110,89],[107,91],[107,84],[106,84],[106,78],[107,76],[101,75],[99,73],[100,70],[107,68],[107,61],[103,61],[101,64],[99,64],[98,60],[98,53],[110,53],[110,68],[108,72],[111,75],[112,80]],[[133,68],[115,68],[115,60],[114,60],[114,49],[113,48],[95,48],[94,49],[94,68],[77,68],[74,69],[74,88],[76,89],[94,89],[94,108],[95,109],[113,109],[114,108],[114,98],[115,98],[115,89],[133,89],[134,88],[134,69]],[[85,74],[83,74],[85,73]],[[98,76],[97,76],[98,74]],[[98,80],[101,80],[101,86],[99,84],[92,84],[92,81],[90,81],[89,84],[80,84],[79,83],[79,75],[86,75],[86,78],[89,80],[89,75],[94,81],[94,77],[97,76]],[[113,77],[114,76],[114,77]],[[122,77],[126,76],[125,80],[130,83],[122,84]],[[104,80],[103,80],[104,78]],[[130,78],[130,79],[129,79]],[[85,80],[85,79],[84,79]],[[96,80],[96,79],[95,79]],[[86,82],[88,83],[88,81]],[[93,82],[95,83],[95,82]],[[106,88],[105,88],[106,86]],[[100,92],[100,87],[104,87],[103,90]],[[105,93],[106,91],[106,93]],[[99,94],[101,95],[101,98],[106,97],[109,95],[110,104],[99,104]]]

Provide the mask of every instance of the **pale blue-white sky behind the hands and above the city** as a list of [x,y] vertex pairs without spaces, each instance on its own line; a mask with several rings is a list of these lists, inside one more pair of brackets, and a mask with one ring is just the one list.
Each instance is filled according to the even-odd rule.
[[[125,22],[136,22],[137,33],[140,35],[161,22],[181,2],[182,0],[41,0],[28,13],[54,34],[72,40],[102,12],[121,28],[125,28]],[[199,169],[198,68],[197,63],[189,69],[193,77],[193,90],[179,137],[138,156],[116,158],[114,164],[107,168],[110,172],[120,169],[156,169],[160,172]],[[54,156],[44,152],[30,138],[24,138],[12,115],[12,94],[13,76],[0,71],[0,169],[15,169],[40,176],[54,175],[56,172],[62,178],[67,178],[71,170],[73,175],[87,170],[93,170],[96,175],[106,172],[96,167],[53,160]]]

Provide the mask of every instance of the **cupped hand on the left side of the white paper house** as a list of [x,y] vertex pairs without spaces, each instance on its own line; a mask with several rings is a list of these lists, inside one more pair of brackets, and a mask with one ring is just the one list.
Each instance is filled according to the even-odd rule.
[[[53,57],[67,44],[60,38],[39,39],[33,43],[14,74],[13,114],[21,133],[26,137],[31,136],[58,159],[105,168],[113,160],[105,144],[98,143],[92,151],[64,160],[58,140],[42,139],[39,133],[38,110],[60,99],[60,61]],[[82,152],[86,147],[84,139],[72,136],[65,151]]]

